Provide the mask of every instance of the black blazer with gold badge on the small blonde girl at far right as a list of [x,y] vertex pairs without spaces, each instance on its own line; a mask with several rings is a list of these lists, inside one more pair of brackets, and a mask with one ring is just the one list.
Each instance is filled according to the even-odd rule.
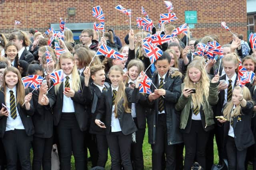
[[[233,118],[234,140],[238,150],[246,149],[255,143],[251,129],[253,104],[247,102],[246,106],[241,108],[242,115]],[[224,145],[227,143],[229,127],[230,121],[226,121],[224,123]]]

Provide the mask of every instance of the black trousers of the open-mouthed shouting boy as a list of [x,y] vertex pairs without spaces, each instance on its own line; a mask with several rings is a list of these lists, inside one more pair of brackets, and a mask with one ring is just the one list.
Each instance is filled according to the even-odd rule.
[[106,135],[96,135],[98,147],[98,161],[97,166],[105,167],[108,161],[108,142]]

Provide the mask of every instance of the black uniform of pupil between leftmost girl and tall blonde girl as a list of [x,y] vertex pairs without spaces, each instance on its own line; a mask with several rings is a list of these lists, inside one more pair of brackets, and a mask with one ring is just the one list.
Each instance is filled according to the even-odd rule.
[[[32,89],[30,89],[32,91]],[[33,170],[50,170],[52,167],[52,145],[53,145],[53,115],[52,109],[38,104],[39,91],[34,90],[32,98],[35,104],[35,113],[32,121],[35,127],[33,148]]]

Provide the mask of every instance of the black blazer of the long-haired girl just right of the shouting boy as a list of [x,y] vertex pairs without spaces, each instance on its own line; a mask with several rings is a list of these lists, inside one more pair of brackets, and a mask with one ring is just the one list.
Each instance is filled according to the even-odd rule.
[[[129,102],[129,107],[131,108],[131,103],[137,103],[139,90],[138,88],[125,88],[125,93]],[[122,133],[124,135],[129,135],[137,131],[137,127],[132,119],[131,113],[126,113],[124,111],[123,99],[118,101],[118,119]],[[112,115],[112,88],[106,90],[100,99],[100,104],[96,110],[96,119],[102,119],[105,117],[106,134],[111,132],[111,115]]]

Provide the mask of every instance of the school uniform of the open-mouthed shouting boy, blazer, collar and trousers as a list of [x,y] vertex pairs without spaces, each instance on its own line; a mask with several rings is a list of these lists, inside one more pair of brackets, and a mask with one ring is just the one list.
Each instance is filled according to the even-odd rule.
[[[100,128],[98,127],[98,125],[95,124],[95,111],[98,107],[100,98],[102,98],[103,89],[106,90],[109,87],[110,85],[106,82],[104,83],[104,86],[98,86],[94,84],[94,82],[92,82],[89,86],[84,86],[83,88],[83,94],[86,98],[86,104],[89,105],[88,112],[91,113],[89,133],[92,135],[92,137],[96,138],[96,146],[94,146],[94,149],[96,149],[96,152],[94,152],[94,156],[97,156],[96,166],[101,167],[105,167],[108,160],[108,143],[106,140],[105,129]],[[105,120],[102,119],[102,122],[105,122]],[[90,156],[92,157],[91,154]]]

